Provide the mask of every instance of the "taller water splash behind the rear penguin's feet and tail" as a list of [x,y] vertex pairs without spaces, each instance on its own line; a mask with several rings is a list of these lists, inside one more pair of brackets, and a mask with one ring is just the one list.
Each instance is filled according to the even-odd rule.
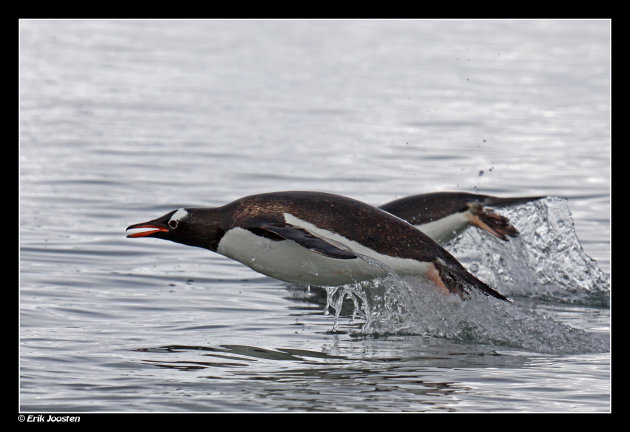
[[582,248],[566,199],[547,197],[497,212],[519,237],[504,242],[468,229],[446,245],[471,272],[513,297],[609,306],[610,276]]

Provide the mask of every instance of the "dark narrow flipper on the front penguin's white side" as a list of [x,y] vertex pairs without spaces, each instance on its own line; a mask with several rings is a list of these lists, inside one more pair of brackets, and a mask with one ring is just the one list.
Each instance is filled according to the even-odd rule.
[[256,224],[255,228],[275,234],[283,239],[291,240],[312,252],[329,258],[353,259],[358,257],[358,255],[352,252],[349,248],[344,248],[345,245],[340,245],[338,243],[333,244],[329,240],[325,240],[303,228],[290,224],[279,225],[273,223],[260,223]]

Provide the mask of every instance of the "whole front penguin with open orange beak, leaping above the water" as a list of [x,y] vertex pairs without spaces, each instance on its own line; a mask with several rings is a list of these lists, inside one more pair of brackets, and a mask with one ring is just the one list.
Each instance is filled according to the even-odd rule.
[[[444,294],[472,290],[505,296],[403,219],[375,206],[324,192],[246,196],[214,208],[180,208],[127,230],[200,247],[285,282],[340,286],[382,277],[388,269],[433,282]],[[375,265],[374,263],[378,263]]]

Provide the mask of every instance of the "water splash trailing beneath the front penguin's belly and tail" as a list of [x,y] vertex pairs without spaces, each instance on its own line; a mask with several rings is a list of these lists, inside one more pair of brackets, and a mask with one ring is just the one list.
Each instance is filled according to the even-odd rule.
[[364,320],[360,335],[420,335],[466,344],[484,344],[538,353],[608,352],[606,336],[555,321],[517,302],[480,293],[467,300],[445,296],[419,278],[387,277],[327,288],[337,331],[343,301],[352,300],[352,321]]

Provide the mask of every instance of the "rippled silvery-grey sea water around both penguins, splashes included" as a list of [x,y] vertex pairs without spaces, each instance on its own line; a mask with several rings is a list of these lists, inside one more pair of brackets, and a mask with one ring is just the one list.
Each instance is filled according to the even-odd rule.
[[[25,20],[19,151],[24,412],[610,410],[608,21]],[[512,304],[125,238],[300,189],[550,198],[448,245]]]

